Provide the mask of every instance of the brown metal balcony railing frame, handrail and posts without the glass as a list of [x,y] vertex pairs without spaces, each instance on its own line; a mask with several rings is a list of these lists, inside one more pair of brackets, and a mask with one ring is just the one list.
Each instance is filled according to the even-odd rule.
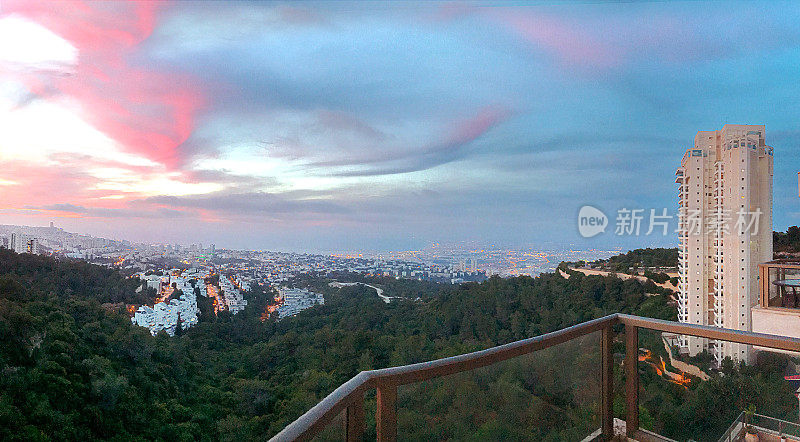
[[[375,412],[377,440],[395,441],[398,436],[397,390],[399,386],[487,367],[598,331],[600,332],[601,353],[600,363],[597,367],[601,380],[601,400],[599,404],[601,428],[595,440],[610,440],[614,437],[612,410],[614,360],[612,345],[615,331],[613,327],[618,324],[624,326],[625,333],[624,369],[625,403],[627,405],[625,431],[627,437],[634,440],[654,440],[654,437],[657,436],[639,428],[639,329],[755,345],[767,349],[800,352],[800,339],[617,313],[552,333],[473,353],[400,367],[362,371],[289,424],[271,440],[310,440],[331,423],[335,417],[344,412],[342,428],[344,439],[347,441],[359,441],[363,438],[366,429],[364,395],[367,391],[375,389],[377,390]],[[656,437],[655,440],[659,439]]]

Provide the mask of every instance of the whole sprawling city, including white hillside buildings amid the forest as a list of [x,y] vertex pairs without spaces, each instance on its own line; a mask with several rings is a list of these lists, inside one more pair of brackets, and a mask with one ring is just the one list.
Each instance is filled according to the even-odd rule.
[[[0,225],[0,247],[17,253],[80,259],[118,268],[139,278],[139,290],[152,290],[152,306],[127,306],[131,322],[155,335],[173,336],[198,322],[197,297],[209,298],[214,314],[237,314],[247,307],[245,294],[257,285],[274,289],[274,304],[261,312],[262,320],[272,313],[277,319],[325,303],[324,296],[305,287],[288,287],[299,275],[341,277],[392,277],[459,284],[479,282],[492,275],[536,276],[554,271],[562,261],[592,261],[619,254],[621,250],[501,249],[495,246],[442,245],[422,250],[381,254],[333,254],[272,252],[264,250],[218,249],[214,244],[138,244],[67,232],[49,227]],[[337,285],[338,284],[338,285]],[[353,283],[332,283],[342,287]],[[376,294],[384,302],[376,286]]]

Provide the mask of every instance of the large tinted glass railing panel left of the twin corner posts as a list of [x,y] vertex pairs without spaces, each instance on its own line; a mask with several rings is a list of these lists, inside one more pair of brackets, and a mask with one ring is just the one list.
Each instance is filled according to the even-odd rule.
[[600,332],[398,389],[398,440],[582,440],[600,428]]

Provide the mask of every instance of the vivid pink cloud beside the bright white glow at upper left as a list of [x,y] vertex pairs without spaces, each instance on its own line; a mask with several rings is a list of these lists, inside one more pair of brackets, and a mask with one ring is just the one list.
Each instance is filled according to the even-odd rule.
[[83,118],[126,151],[174,169],[181,163],[178,146],[192,132],[203,95],[185,75],[148,70],[129,61],[152,33],[162,5],[11,0],[3,3],[3,14],[48,28],[79,53],[69,74],[23,72],[15,74],[17,80],[40,97],[77,100]]

